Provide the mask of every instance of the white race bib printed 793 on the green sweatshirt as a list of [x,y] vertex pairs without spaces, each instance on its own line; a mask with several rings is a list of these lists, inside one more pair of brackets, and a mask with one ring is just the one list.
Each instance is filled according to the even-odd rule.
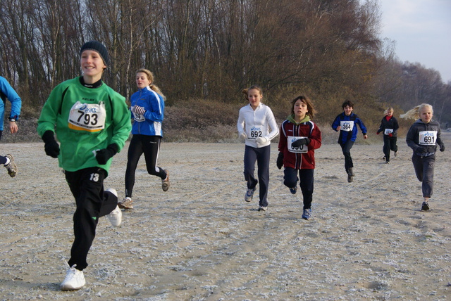
[[105,103],[80,103],[77,101],[69,113],[69,128],[77,131],[99,132],[105,128]]

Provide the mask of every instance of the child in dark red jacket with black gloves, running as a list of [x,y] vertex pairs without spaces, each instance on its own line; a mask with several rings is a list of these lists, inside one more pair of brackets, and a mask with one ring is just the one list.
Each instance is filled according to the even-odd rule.
[[321,131],[311,121],[316,110],[307,96],[298,96],[291,104],[291,115],[280,126],[277,167],[278,169],[285,167],[283,184],[290,188],[292,194],[296,193],[299,180],[304,199],[302,218],[310,219],[315,150],[321,146]]

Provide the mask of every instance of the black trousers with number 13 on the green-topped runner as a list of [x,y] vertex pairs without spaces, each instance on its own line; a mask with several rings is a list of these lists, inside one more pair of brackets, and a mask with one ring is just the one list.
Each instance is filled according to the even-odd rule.
[[104,193],[106,171],[99,167],[66,171],[66,181],[72,192],[77,209],[73,214],[75,240],[70,250],[69,266],[77,264],[77,269],[87,267],[87,253],[96,235],[99,217],[110,214],[118,205],[113,193]]

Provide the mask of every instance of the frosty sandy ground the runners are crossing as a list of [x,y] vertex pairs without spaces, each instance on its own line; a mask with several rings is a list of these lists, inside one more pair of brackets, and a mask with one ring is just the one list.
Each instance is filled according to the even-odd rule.
[[[316,152],[313,219],[300,219],[276,168],[273,144],[268,212],[258,193],[243,200],[242,144],[163,143],[171,188],[141,160],[135,210],[113,228],[99,222],[87,285],[61,292],[75,208],[57,162],[42,143],[2,143],[20,167],[0,175],[1,300],[450,300],[451,135],[438,153],[431,212],[403,139],[392,164],[382,145],[352,148],[352,184],[338,144]],[[123,196],[126,149],[106,187]],[[258,190],[257,190],[258,192]]]

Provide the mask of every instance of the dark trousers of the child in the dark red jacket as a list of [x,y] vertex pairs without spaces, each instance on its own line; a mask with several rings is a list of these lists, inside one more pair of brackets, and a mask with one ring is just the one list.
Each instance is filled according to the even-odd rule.
[[[297,171],[299,170],[299,179],[297,178]],[[311,208],[311,201],[313,200],[314,188],[314,170],[315,169],[294,169],[285,167],[283,170],[283,184],[288,188],[296,187],[299,180],[299,186],[302,191],[302,198],[304,202],[304,209]]]

